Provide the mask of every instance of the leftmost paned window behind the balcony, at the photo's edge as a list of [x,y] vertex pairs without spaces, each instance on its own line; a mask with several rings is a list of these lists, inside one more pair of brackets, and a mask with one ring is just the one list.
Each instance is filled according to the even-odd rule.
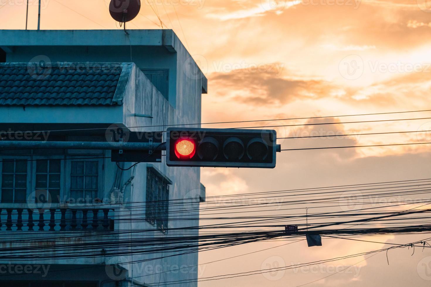
[[25,159],[4,159],[2,162],[1,201],[26,202],[27,170]]

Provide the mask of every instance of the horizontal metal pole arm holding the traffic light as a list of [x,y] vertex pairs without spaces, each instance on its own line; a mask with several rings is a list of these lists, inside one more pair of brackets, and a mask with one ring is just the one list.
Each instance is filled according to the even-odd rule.
[[0,141],[0,150],[3,148],[32,149],[32,148],[59,148],[59,149],[110,149],[110,150],[143,150],[165,151],[166,143],[158,142],[35,142],[35,141]]

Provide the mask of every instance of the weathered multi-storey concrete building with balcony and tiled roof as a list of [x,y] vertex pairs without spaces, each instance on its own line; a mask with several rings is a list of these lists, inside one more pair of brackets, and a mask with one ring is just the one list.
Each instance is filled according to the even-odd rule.
[[[97,142],[112,127],[200,123],[206,78],[175,33],[128,32],[0,31],[2,139]],[[187,227],[205,200],[200,169],[162,157],[123,171],[113,152],[0,151],[1,286],[197,286],[197,242],[154,242],[198,234]]]

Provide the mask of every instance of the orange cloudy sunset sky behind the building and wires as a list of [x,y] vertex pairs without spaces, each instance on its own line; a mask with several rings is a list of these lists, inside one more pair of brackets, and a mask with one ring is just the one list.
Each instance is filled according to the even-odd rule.
[[[107,13],[108,2],[42,0],[41,28],[119,28]],[[0,0],[1,29],[25,28],[24,4],[24,0]],[[29,28],[36,28],[35,0],[30,0],[28,23]],[[336,123],[275,127],[278,137],[412,131],[280,139],[278,143],[286,149],[431,142],[431,133],[422,132],[431,130],[431,119],[426,119],[431,112],[340,117],[431,109],[429,0],[155,0],[152,5],[145,2],[128,27],[174,29],[208,78],[208,94],[202,96],[203,122],[328,116],[275,120],[259,126]],[[422,119],[345,123],[408,118]],[[431,144],[421,144],[284,151],[277,154],[275,169],[203,168],[201,182],[207,196],[223,196],[428,179],[430,148]],[[385,202],[373,204],[390,210]],[[410,204],[405,209],[418,206]],[[301,207],[297,212],[305,213],[307,206]],[[329,210],[343,211],[343,207]],[[322,247],[279,238],[202,252],[200,263],[205,263],[274,247],[201,265],[199,275],[314,262],[423,238],[427,235],[359,238],[377,243],[324,238]],[[203,281],[199,287],[429,286],[431,251],[427,249],[399,248],[313,268]]]

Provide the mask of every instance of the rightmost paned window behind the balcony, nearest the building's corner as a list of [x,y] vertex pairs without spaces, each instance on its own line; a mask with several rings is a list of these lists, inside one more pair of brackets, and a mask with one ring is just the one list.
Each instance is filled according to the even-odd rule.
[[70,172],[70,193],[72,198],[84,198],[87,202],[97,198],[99,180],[98,161],[72,161]]

